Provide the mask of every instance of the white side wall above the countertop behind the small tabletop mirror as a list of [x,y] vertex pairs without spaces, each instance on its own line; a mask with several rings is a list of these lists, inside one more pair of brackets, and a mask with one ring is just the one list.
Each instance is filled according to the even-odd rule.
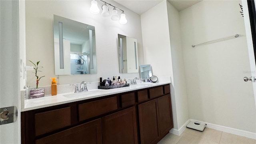
[[155,76],[172,76],[172,57],[165,1],[141,15],[141,27],[145,64],[151,64]]

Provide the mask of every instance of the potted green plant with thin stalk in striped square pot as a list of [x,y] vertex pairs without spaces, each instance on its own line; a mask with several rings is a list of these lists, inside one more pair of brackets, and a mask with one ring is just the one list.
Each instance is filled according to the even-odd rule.
[[42,71],[38,70],[38,68],[43,68],[43,67],[38,66],[40,61],[36,62],[36,64],[34,62],[32,62],[31,60],[28,60],[28,61],[30,61],[34,65],[33,67],[34,67],[35,72],[33,72],[33,73],[36,74],[36,88],[30,89],[30,98],[43,97],[44,96],[44,88],[38,88],[39,80],[42,77],[44,77],[44,76],[41,76],[41,77],[38,76],[38,72],[42,72]]

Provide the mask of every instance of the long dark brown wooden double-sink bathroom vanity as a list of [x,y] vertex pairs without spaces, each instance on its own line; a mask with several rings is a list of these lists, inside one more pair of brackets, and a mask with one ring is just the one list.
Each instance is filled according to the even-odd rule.
[[108,92],[24,108],[22,144],[156,144],[173,128],[169,83]]

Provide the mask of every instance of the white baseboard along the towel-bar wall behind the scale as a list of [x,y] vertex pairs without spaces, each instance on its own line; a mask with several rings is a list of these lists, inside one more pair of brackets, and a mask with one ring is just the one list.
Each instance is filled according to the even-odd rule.
[[253,133],[253,132],[248,132],[248,131],[245,131],[245,130],[238,130],[238,129],[235,129],[235,128],[220,126],[220,125],[217,125],[217,124],[211,124],[211,123],[202,122],[202,121],[199,121],[199,120],[190,119],[190,121],[207,124],[207,126],[206,126],[207,128],[212,128],[214,130],[220,130],[222,132],[228,132],[230,134],[236,134],[238,136],[244,136],[246,138],[256,139],[256,133]]

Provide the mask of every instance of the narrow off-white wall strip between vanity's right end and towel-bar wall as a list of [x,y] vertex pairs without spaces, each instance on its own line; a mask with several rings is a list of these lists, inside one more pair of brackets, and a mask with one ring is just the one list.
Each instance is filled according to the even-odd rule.
[[180,34],[180,16],[178,10],[176,10],[168,1],[167,11],[172,53],[172,85],[175,90],[178,128],[180,128],[189,119],[188,97],[186,93],[186,79]]

